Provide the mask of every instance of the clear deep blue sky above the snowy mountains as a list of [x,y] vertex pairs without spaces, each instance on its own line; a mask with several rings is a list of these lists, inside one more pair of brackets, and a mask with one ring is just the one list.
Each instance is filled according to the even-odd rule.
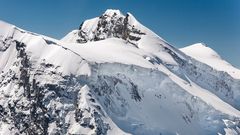
[[0,19],[60,39],[108,8],[131,12],[175,47],[204,42],[240,68],[240,0],[1,0]]

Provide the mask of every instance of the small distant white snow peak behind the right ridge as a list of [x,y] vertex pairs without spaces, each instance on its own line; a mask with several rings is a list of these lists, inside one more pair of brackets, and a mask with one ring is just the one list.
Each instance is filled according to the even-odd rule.
[[223,60],[214,50],[205,44],[197,43],[181,48],[180,50],[216,70],[227,72],[232,77],[240,79],[240,70]]

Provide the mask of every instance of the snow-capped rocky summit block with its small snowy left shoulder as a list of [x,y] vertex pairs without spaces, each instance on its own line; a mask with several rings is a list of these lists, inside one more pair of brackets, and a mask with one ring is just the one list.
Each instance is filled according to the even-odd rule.
[[63,41],[86,43],[115,37],[135,44],[146,34],[146,30],[130,13],[124,16],[119,10],[112,9],[106,10],[100,17],[84,21],[79,30],[73,32],[76,36],[74,40],[69,40],[73,36],[70,33]]

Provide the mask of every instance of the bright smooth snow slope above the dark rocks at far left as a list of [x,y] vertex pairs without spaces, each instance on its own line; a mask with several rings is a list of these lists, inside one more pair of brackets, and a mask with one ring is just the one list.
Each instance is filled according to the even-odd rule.
[[[0,22],[0,26],[4,25],[7,27],[2,27],[3,31],[1,31],[1,72],[9,70],[10,66],[14,65],[17,56],[23,56],[26,53],[26,55],[31,56],[31,61],[36,61],[39,65],[42,63],[42,61],[46,63],[52,63],[54,65],[64,65],[62,67],[63,69],[59,69],[59,71],[61,71],[63,74],[81,74],[80,72],[82,71],[84,71],[86,74],[89,74],[87,69],[79,69],[79,63],[85,65],[84,63],[86,62],[84,62],[81,56],[74,54],[73,51],[65,51],[61,46],[54,43],[54,41],[48,40],[48,38],[35,35],[16,28],[15,26]],[[22,46],[24,46],[24,50],[19,50],[19,47]],[[62,61],[62,59],[65,59],[65,61]]]

